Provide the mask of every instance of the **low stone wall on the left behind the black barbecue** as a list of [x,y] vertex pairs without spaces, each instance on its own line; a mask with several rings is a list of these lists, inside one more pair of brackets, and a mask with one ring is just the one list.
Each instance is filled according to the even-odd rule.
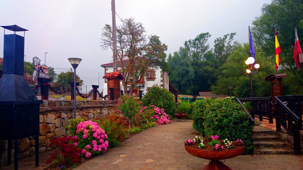
[[[103,118],[108,113],[114,113],[117,101],[77,100],[76,118]],[[68,120],[74,118],[74,101],[72,100],[43,100],[40,105],[40,134],[39,152],[50,150],[52,139],[66,135]],[[12,147],[14,147],[12,141]],[[35,155],[35,140],[33,137],[19,139],[19,159]],[[7,165],[7,140],[0,140],[0,167]],[[14,161],[14,148],[12,149]]]

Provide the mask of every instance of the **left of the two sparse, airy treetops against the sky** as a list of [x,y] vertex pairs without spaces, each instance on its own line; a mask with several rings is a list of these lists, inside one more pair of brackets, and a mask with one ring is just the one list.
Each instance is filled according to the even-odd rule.
[[209,50],[208,39],[211,37],[209,32],[201,33],[193,40],[185,41],[184,46],[189,52],[192,60],[202,61],[204,54]]

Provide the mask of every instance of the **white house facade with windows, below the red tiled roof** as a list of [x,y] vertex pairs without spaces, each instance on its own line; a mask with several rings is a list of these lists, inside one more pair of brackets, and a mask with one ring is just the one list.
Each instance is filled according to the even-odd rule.
[[[118,71],[121,71],[120,62],[118,61]],[[104,67],[104,74],[111,73],[114,71],[113,63],[102,64],[101,67]],[[169,90],[169,78],[168,73],[163,72],[159,66],[151,67],[148,69],[148,76],[144,76],[144,80],[140,81],[142,86],[135,85],[132,89],[133,93],[139,94],[139,90],[142,90],[142,93],[145,94],[153,85],[158,85],[162,88]],[[144,86],[144,87],[143,87]],[[120,90],[124,90],[122,82],[120,83]],[[127,90],[130,90],[130,84],[127,85]],[[125,92],[124,92],[125,93]],[[107,79],[104,80],[103,86],[103,96],[107,95]]]

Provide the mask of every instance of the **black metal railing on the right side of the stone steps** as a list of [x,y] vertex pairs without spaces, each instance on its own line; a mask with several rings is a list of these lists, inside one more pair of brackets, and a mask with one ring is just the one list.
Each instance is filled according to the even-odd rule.
[[[294,152],[296,155],[301,155],[300,129],[302,129],[302,113],[297,116],[285,103],[279,98],[285,99],[286,96],[275,97],[275,115],[277,132],[281,131],[281,126],[293,136]],[[289,96],[288,96],[289,97]],[[301,98],[302,99],[302,98]],[[300,102],[301,103],[301,102]],[[289,103],[287,103],[289,104]],[[295,106],[294,103],[292,103]]]

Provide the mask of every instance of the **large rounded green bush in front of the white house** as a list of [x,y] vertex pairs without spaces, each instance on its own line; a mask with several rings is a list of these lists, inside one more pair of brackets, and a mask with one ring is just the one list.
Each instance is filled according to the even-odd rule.
[[168,115],[176,113],[175,96],[167,89],[153,86],[148,93],[141,99],[143,106],[155,105],[165,110]]

